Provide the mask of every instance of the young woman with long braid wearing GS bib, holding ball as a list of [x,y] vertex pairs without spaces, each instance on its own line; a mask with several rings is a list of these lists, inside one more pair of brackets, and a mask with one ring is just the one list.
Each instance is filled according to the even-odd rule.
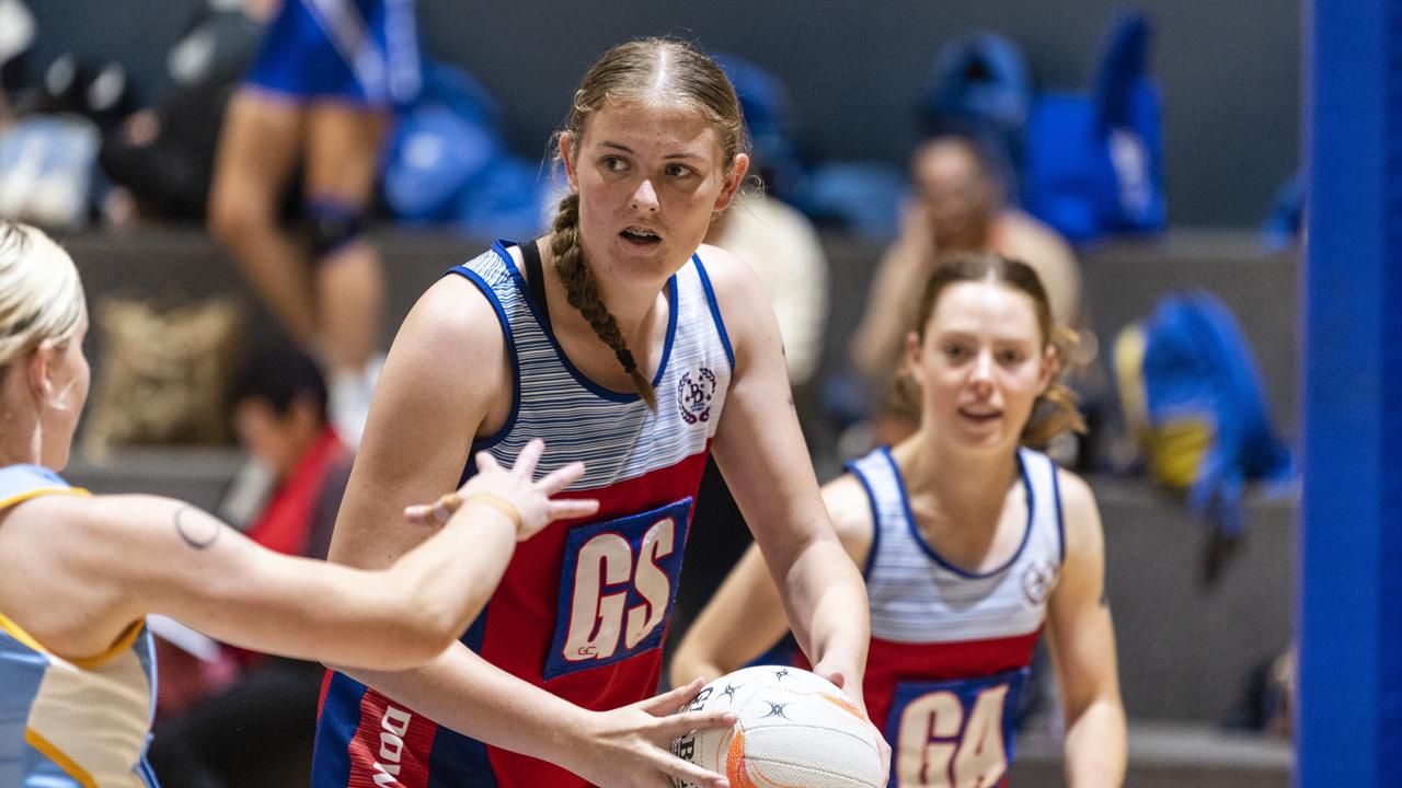
[[[589,470],[565,495],[597,516],[523,545],[461,645],[401,673],[334,673],[314,785],[723,787],[670,756],[701,687],[648,700],[708,451],[778,579],[794,631],[859,695],[866,602],[823,510],[778,328],[749,266],[702,245],[746,179],[735,90],[694,46],[610,49],[558,136],[571,193],[552,231],[454,268],[390,351],[331,558],[377,566],[412,547],[402,502],[503,461]],[[555,453],[558,450],[558,453]],[[384,746],[387,736],[393,746]]]

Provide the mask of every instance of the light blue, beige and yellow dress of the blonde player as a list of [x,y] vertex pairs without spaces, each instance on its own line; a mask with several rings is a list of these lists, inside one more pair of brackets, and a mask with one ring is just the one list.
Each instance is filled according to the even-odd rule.
[[[41,495],[88,495],[38,466],[0,468],[0,512]],[[3,527],[3,524],[0,524]],[[146,763],[156,655],[144,621],[107,653],[63,659],[0,610],[0,785],[156,788]]]

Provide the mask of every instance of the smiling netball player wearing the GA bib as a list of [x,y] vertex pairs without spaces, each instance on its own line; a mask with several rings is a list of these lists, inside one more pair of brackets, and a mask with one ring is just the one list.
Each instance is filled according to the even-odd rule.
[[[1119,785],[1124,709],[1095,499],[1022,446],[1080,423],[1059,381],[1064,345],[1046,292],[1025,264],[956,255],[930,279],[906,345],[920,429],[823,488],[865,566],[866,711],[894,747],[890,785],[1007,781],[1043,623],[1064,695],[1067,782]],[[673,674],[719,676],[781,634],[773,587],[746,555],[687,632]]]

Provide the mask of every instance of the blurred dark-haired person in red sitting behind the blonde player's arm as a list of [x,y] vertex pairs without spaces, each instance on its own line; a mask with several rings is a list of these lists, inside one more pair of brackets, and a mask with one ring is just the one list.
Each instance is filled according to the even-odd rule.
[[[243,517],[245,536],[278,552],[325,558],[352,454],[328,421],[321,372],[299,351],[268,348],[254,353],[231,401],[238,443],[272,480],[251,520]],[[220,509],[240,519],[227,501]],[[157,648],[163,716],[150,759],[163,782],[310,782],[321,665],[229,646],[206,662],[164,641]]]

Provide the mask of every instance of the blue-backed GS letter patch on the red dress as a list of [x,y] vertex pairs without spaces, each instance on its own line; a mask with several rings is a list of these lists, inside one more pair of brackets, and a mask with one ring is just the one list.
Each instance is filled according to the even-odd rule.
[[662,645],[690,517],[688,496],[571,529],[544,679],[613,665]]

